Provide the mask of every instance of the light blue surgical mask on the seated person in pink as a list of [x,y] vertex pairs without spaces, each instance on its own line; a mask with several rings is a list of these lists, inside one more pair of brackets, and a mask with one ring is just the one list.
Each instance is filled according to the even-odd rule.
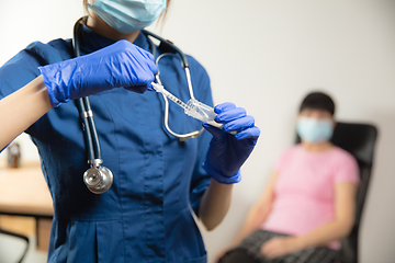
[[334,134],[331,119],[316,119],[311,117],[301,117],[296,127],[297,135],[301,139],[318,144],[327,141]]

